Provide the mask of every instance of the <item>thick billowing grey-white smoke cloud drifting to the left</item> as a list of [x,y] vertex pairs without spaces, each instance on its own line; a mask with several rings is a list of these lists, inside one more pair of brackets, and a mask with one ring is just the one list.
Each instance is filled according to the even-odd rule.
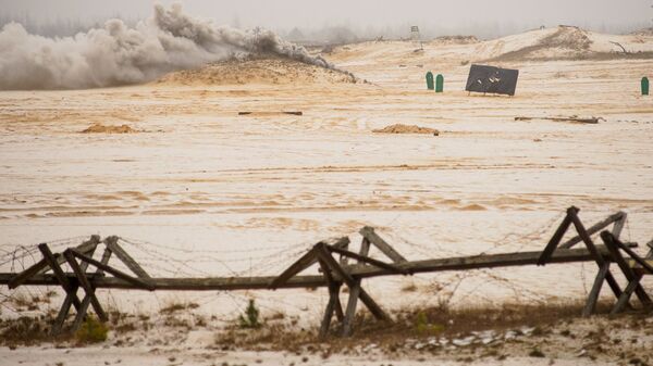
[[111,20],[74,37],[28,34],[16,23],[0,31],[0,89],[83,89],[137,84],[175,70],[247,55],[276,54],[318,66],[311,56],[270,30],[239,30],[193,18],[178,4],[155,7],[135,28]]

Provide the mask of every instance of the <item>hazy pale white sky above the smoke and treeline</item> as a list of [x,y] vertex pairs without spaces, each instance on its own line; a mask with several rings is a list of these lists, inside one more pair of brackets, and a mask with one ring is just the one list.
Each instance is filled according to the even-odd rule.
[[591,28],[651,24],[653,0],[0,0],[0,15],[34,20],[96,20],[120,14],[148,17],[155,2],[180,2],[186,12],[218,23],[288,28],[349,25],[357,28],[417,24],[575,24]]

